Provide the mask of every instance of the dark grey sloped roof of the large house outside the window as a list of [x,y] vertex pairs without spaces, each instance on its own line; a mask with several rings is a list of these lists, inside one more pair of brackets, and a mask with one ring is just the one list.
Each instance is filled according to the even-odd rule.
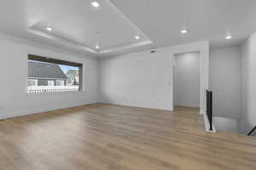
[[28,78],[67,79],[59,65],[28,61]]

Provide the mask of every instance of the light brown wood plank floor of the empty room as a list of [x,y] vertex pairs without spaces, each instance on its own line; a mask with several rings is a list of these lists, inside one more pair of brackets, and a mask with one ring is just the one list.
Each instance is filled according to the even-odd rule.
[[1,121],[0,169],[255,170],[256,138],[206,133],[188,108],[86,105]]

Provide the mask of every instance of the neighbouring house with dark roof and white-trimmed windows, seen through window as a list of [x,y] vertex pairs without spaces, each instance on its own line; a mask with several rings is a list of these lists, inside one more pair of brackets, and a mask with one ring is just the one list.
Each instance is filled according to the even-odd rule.
[[59,65],[28,61],[27,86],[65,86],[67,76]]

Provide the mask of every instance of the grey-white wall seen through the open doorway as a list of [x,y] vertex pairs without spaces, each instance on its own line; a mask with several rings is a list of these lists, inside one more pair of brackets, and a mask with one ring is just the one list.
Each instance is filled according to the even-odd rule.
[[175,55],[174,105],[200,107],[200,53]]

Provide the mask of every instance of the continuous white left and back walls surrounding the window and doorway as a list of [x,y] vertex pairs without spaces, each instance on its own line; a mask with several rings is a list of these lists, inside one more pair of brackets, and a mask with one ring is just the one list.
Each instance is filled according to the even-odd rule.
[[[172,111],[172,56],[188,51],[201,51],[201,90],[207,88],[208,42],[161,48],[156,54],[147,51],[98,61],[90,56],[71,54],[41,43],[32,44],[2,34],[0,37],[0,118],[99,101]],[[83,62],[84,92],[26,94],[27,54]],[[201,105],[204,107],[204,102]]]

